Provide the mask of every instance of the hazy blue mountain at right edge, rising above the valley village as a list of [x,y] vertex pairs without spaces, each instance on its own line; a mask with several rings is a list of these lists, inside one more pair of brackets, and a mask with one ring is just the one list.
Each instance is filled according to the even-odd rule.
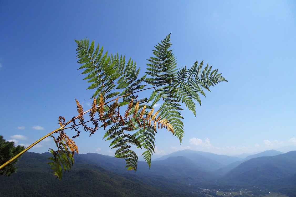
[[229,171],[219,182],[283,192],[296,188],[296,181],[292,180],[296,180],[296,151],[250,159]]

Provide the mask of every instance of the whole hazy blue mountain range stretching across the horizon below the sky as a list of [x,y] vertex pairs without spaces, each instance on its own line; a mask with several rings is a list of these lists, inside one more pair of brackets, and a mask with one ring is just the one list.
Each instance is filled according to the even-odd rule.
[[[12,177],[0,178],[0,185],[3,185],[0,187],[0,194],[9,196],[9,193],[17,190],[21,191],[22,195],[18,193],[13,196],[38,196],[32,192],[37,191],[38,193],[40,190],[43,196],[52,196],[50,188],[56,187],[57,190],[62,190],[62,187],[69,187],[75,193],[73,196],[83,196],[79,188],[83,189],[84,185],[84,187],[101,188],[101,196],[139,196],[142,193],[145,195],[140,196],[191,196],[194,188],[198,187],[232,188],[255,185],[293,196],[293,191],[296,190],[296,151],[286,154],[279,153],[278,151],[265,151],[253,155],[253,157],[261,157],[245,162],[241,159],[225,165],[225,162],[222,164],[218,161],[223,162],[225,158],[235,160],[239,158],[184,150],[164,156],[163,160],[152,161],[150,169],[146,162],[139,161],[136,173],[124,168],[124,159],[96,153],[79,154],[75,155],[72,171],[66,172],[63,181],[59,182],[55,180],[46,164],[49,162],[47,158],[51,156],[50,153],[27,152],[21,158],[18,164],[20,169],[16,174]],[[262,156],[268,154],[278,155]],[[205,164],[202,164],[203,161]],[[224,167],[214,171],[213,166],[207,167],[207,164]],[[221,170],[226,167],[229,168],[227,169],[229,172],[222,177]],[[67,180],[71,180],[71,183]],[[75,181],[72,182],[72,180]],[[90,180],[95,180],[95,182]],[[32,184],[28,185],[28,183]],[[32,186],[34,184],[36,186]],[[115,188],[115,191],[109,188]],[[135,191],[129,193],[130,189]],[[101,190],[99,189],[86,190],[89,196],[100,196]],[[70,196],[66,193],[63,195]]]

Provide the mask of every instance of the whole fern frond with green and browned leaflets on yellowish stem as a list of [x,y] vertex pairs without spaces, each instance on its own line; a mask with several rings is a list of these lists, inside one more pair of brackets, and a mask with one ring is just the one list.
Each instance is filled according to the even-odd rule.
[[[50,148],[52,157],[49,165],[57,178],[61,179],[66,170],[70,170],[74,163],[73,156],[78,154],[78,146],[73,138],[79,137],[81,130],[94,134],[97,130],[106,130],[104,138],[111,140],[110,146],[114,148],[115,157],[126,160],[128,170],[137,169],[138,156],[133,148],[141,148],[143,157],[151,165],[151,155],[155,148],[155,135],[157,129],[165,128],[180,142],[184,135],[181,111],[183,106],[195,115],[196,102],[201,104],[200,95],[210,91],[210,86],[227,81],[218,69],[212,69],[203,61],[196,61],[192,67],[177,69],[177,62],[170,50],[170,34],[158,43],[153,50],[153,56],[148,59],[146,75],[140,76],[140,69],[136,62],[130,58],[127,62],[125,56],[103,52],[99,44],[95,48],[94,41],[75,40],[77,44],[78,63],[82,64],[81,74],[86,75],[94,89],[91,109],[84,111],[76,100],[78,115],[66,122],[59,117],[60,127],[40,138],[24,151],[0,166],[0,169],[18,158],[25,151],[37,143],[51,136],[57,145],[57,150]],[[149,98],[139,99],[138,93],[151,91]],[[158,111],[154,113],[154,106],[161,103]],[[85,118],[85,115],[89,117]],[[73,130],[70,138],[66,129]],[[57,133],[57,137],[53,135]]]

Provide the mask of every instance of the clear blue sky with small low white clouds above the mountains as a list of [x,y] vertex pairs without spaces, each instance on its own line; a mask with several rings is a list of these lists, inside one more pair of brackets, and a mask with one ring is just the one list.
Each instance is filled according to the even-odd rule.
[[[296,150],[295,1],[0,1],[0,135],[28,146],[89,107],[74,39],[132,57],[144,73],[171,33],[178,65],[209,62],[229,81],[185,110],[185,136],[157,133],[155,158],[182,149],[235,155]],[[67,131],[72,136],[72,131]],[[80,153],[114,155],[104,130],[75,141]],[[46,139],[33,152],[54,148]]]

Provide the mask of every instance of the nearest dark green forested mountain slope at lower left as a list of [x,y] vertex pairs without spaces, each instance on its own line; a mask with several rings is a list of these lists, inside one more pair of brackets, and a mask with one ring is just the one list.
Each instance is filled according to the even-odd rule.
[[[18,163],[17,173],[0,178],[0,196],[188,196],[164,181],[161,187],[155,187],[157,181],[153,185],[149,179],[140,180],[126,169],[128,176],[117,174],[112,169],[121,164],[122,159],[100,154],[75,155],[71,172],[66,172],[59,181],[46,164],[49,156],[48,153],[25,153]],[[87,156],[93,159],[92,164],[87,164],[92,160]],[[94,164],[96,160],[107,164],[113,160],[115,165],[108,170]],[[124,169],[124,165],[120,169]]]

